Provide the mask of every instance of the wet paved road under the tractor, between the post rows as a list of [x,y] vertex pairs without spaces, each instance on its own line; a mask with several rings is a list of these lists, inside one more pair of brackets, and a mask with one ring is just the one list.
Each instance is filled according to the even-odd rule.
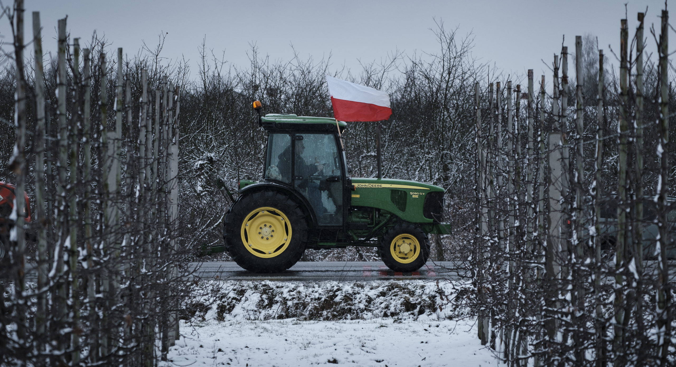
[[316,280],[433,280],[437,278],[458,278],[451,268],[452,262],[436,264],[427,262],[417,272],[393,272],[383,262],[297,262],[289,270],[275,274],[256,274],[240,268],[234,262],[191,263],[199,267],[195,273],[201,278],[222,280],[279,280],[279,281],[316,281]]

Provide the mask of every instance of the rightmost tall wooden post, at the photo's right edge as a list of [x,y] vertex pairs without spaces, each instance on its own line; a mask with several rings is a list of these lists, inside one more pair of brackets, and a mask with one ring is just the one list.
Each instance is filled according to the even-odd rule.
[[669,342],[671,341],[671,291],[669,290],[669,262],[667,261],[667,246],[669,244],[669,224],[667,222],[667,182],[669,182],[669,11],[662,10],[662,26],[659,43],[659,78],[660,78],[660,143],[657,155],[660,157],[660,186],[657,188],[658,197],[658,228],[660,246],[658,252],[658,297],[657,297],[657,346],[661,366],[667,366],[669,356]]

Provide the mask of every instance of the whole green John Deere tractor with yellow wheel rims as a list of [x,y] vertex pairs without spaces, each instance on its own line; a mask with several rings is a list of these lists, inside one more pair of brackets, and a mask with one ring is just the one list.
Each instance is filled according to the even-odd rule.
[[345,122],[295,114],[258,122],[268,132],[264,180],[239,182],[224,246],[204,254],[228,251],[251,272],[283,272],[306,249],[378,247],[391,270],[414,272],[429,258],[427,235],[450,233],[441,187],[349,176]]

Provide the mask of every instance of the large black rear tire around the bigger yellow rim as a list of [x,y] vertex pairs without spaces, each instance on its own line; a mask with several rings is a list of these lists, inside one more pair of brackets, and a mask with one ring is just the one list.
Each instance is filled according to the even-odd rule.
[[[287,247],[273,257],[261,257],[266,254],[258,251],[262,255],[256,255],[255,251],[249,251],[242,239],[243,225],[256,216],[251,216],[251,211],[260,207],[272,208],[275,213],[286,216],[293,230]],[[308,244],[308,221],[304,212],[289,196],[277,191],[259,191],[242,197],[233,204],[224,222],[226,249],[237,265],[250,272],[283,272],[300,260]],[[278,236],[279,233],[278,230]]]

